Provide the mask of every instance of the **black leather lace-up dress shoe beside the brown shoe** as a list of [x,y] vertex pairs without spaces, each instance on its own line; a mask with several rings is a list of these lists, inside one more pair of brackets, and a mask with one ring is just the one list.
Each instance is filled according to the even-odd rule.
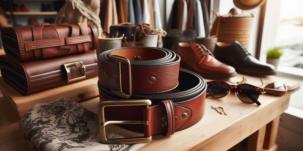
[[238,41],[235,41],[232,44],[222,42],[216,43],[213,54],[220,62],[234,67],[239,73],[254,76],[277,74],[277,70],[273,65],[262,63],[251,56],[245,47]]

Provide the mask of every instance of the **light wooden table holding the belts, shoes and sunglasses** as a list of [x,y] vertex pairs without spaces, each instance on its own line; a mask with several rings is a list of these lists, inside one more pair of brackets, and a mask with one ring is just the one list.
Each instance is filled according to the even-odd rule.
[[[238,82],[243,75],[231,78]],[[245,76],[248,83],[259,86],[259,78]],[[206,81],[211,81],[206,79]],[[263,78],[264,82],[281,81],[286,85],[295,85],[298,82],[282,79],[275,76]],[[153,136],[151,143],[141,150],[237,150],[233,147],[248,137],[247,150],[276,150],[275,143],[278,133],[280,115],[288,108],[291,93],[277,97],[260,95],[261,106],[245,104],[235,95],[222,99],[207,98],[204,117],[194,126],[186,130],[175,132],[174,135],[163,137]],[[92,98],[80,102],[88,110],[97,112],[99,98]],[[23,132],[18,127],[18,114],[10,112],[9,104],[0,97],[0,150],[30,150],[23,138]],[[221,106],[228,115],[217,113],[213,106]],[[142,135],[130,132],[118,126],[110,125],[107,128],[125,137]],[[233,147],[233,148],[232,148]],[[245,148],[245,149],[246,149]]]

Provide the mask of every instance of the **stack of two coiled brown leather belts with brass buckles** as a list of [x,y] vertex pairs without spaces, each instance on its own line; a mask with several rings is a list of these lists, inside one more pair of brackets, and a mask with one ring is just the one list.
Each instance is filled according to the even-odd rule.
[[[102,143],[149,142],[152,135],[172,135],[203,117],[206,82],[198,74],[179,70],[180,57],[171,50],[118,48],[101,53],[98,59]],[[110,121],[105,122],[105,117]],[[125,124],[130,130],[144,131],[144,137],[106,139],[108,124]]]

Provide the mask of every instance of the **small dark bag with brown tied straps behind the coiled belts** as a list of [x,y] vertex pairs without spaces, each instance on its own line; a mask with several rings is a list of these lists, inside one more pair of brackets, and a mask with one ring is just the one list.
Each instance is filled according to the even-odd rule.
[[[122,47],[135,47],[143,46],[145,35],[151,34],[152,30],[149,24],[132,24],[132,23],[121,23],[117,25],[112,25],[110,27],[110,38],[122,37]],[[134,38],[135,37],[135,38]]]

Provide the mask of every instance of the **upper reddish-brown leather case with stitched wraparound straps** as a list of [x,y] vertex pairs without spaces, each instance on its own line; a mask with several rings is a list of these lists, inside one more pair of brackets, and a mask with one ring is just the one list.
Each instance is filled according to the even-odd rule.
[[1,38],[7,57],[16,62],[84,53],[98,45],[97,28],[87,23],[2,28]]

